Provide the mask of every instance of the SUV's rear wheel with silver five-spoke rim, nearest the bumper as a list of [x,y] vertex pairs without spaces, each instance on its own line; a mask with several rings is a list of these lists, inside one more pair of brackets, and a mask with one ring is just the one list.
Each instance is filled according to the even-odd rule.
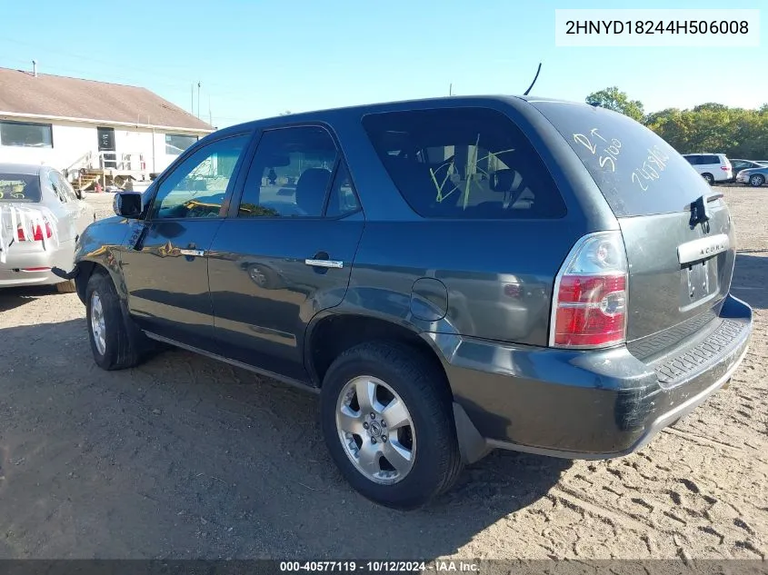
[[371,501],[420,507],[462,469],[444,374],[405,346],[369,342],[342,353],[325,374],[320,412],[331,457]]

